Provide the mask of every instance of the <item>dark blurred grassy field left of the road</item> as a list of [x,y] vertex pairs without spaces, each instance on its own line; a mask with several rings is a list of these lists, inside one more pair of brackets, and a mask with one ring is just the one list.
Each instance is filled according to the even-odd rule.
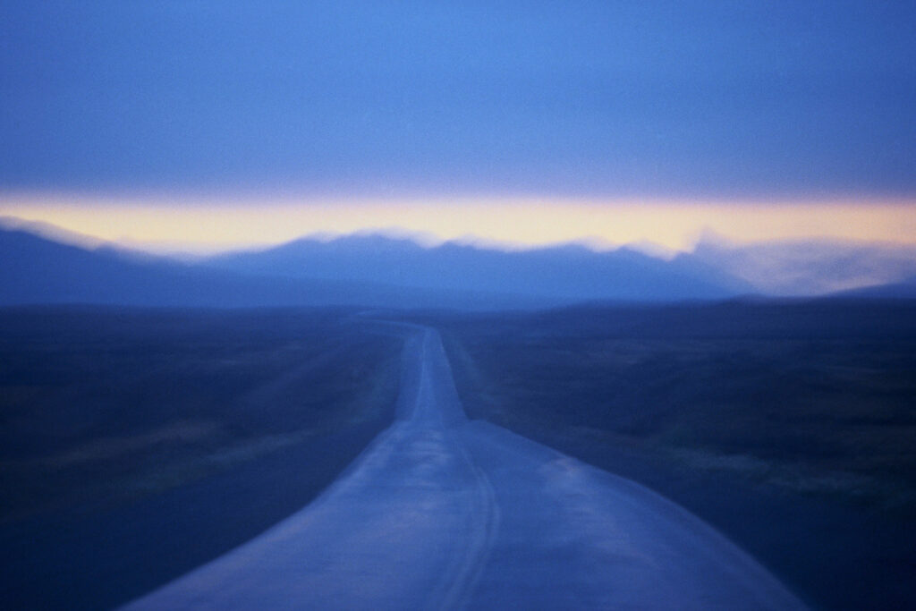
[[5,604],[100,608],[304,506],[387,426],[344,311],[0,311]]

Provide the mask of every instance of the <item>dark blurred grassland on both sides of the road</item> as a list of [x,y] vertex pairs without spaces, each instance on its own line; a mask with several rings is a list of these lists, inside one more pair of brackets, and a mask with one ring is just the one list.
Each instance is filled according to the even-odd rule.
[[[397,394],[400,341],[347,314],[0,311],[3,606],[116,606],[317,496]],[[669,496],[812,606],[916,603],[916,303],[410,318],[472,417]]]

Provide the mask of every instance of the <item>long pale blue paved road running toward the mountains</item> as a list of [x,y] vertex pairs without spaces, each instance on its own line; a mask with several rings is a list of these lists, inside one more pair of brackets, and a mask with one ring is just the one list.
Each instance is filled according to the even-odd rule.
[[394,424],[322,496],[125,608],[804,608],[681,507],[467,420],[434,330],[401,376]]

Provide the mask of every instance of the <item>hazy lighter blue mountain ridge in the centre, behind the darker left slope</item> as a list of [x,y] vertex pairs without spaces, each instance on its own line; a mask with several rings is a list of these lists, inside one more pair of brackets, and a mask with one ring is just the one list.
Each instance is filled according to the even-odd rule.
[[252,275],[376,281],[564,302],[718,299],[753,291],[747,282],[702,261],[669,262],[626,247],[505,251],[447,242],[427,248],[382,235],[306,237],[267,250],[214,256],[205,265]]

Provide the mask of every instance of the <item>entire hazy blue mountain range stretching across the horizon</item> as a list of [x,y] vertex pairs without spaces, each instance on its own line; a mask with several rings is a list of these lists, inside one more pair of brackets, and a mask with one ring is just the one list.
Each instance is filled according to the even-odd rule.
[[[823,256],[829,249],[834,249],[833,259]],[[776,249],[778,254],[784,251]],[[881,268],[881,256],[888,255],[874,247],[865,255],[856,252],[856,274],[868,261]],[[848,248],[823,245],[818,253],[818,265],[842,276]],[[916,282],[905,278],[916,256],[906,255],[893,251],[892,282],[886,289],[870,289],[875,296],[913,293]],[[511,251],[456,242],[425,247],[405,238],[345,235],[305,237],[188,262],[7,222],[0,227],[0,305],[518,309],[583,301],[715,300],[785,294],[752,281],[765,271],[767,261],[776,261],[779,268],[785,258],[760,246],[701,244],[692,253],[665,259],[628,247],[596,252],[568,244]],[[816,266],[805,267],[803,260],[799,268],[796,277],[816,272]],[[912,269],[916,274],[916,266]],[[782,272],[782,278],[790,276]],[[836,279],[823,280],[831,281]],[[842,278],[839,284],[860,289],[855,284],[845,287]],[[872,294],[860,290],[850,294]]]

